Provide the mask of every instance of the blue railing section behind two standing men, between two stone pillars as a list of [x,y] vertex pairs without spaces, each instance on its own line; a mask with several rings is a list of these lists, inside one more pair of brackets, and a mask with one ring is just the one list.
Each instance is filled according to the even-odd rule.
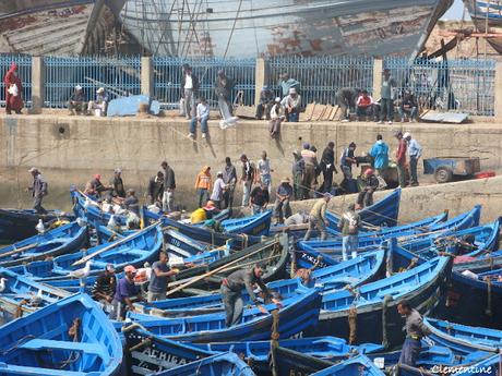
[[224,70],[235,82],[232,100],[238,93],[242,93],[246,106],[254,105],[254,74],[256,61],[254,59],[180,59],[170,57],[154,57],[154,97],[163,107],[172,108],[179,105],[182,64],[192,66],[194,75],[200,81],[200,96],[205,97],[212,107],[216,107],[214,83],[219,70]]

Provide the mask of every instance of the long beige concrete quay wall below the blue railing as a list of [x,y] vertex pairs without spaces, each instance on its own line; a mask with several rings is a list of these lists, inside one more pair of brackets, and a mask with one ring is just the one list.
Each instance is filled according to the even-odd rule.
[[[193,143],[187,137],[188,122],[183,119],[2,114],[0,206],[22,207],[29,204],[23,189],[29,184],[27,169],[31,166],[38,167],[49,181],[47,206],[68,209],[70,184],[83,187],[94,173],[100,173],[103,180],[108,181],[113,169],[120,167],[125,185],[143,194],[148,178],[162,160],[167,160],[176,171],[178,198],[190,209],[195,202],[193,185],[196,173],[208,165],[215,175],[223,168],[226,156],[231,157],[239,168],[237,159],[240,154],[246,153],[258,161],[261,151],[267,150],[274,169],[273,182],[278,182],[280,178],[290,175],[291,151],[301,148],[303,142],[315,145],[321,154],[325,144],[334,141],[338,158],[342,149],[352,141],[358,145],[358,155],[367,153],[376,134],[381,133],[393,154],[397,144],[393,138],[395,130],[411,132],[423,146],[425,158],[478,156],[482,158],[482,169],[494,170],[501,166],[502,158],[502,128],[495,123],[284,123],[279,141],[271,140],[267,129],[265,121],[240,121],[236,128],[227,130],[220,130],[217,121],[210,121],[211,137],[201,140],[199,134]],[[335,181],[340,179],[340,174],[335,175]],[[477,184],[473,185],[473,190]],[[421,187],[417,190],[419,192]]]

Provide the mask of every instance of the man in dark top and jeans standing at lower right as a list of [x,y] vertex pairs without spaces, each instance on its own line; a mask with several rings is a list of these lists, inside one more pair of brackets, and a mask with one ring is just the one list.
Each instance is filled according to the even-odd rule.
[[423,325],[422,316],[417,310],[411,308],[407,300],[402,300],[397,304],[397,312],[406,317],[406,339],[401,351],[399,364],[415,367],[421,350],[421,339],[429,335],[430,330]]

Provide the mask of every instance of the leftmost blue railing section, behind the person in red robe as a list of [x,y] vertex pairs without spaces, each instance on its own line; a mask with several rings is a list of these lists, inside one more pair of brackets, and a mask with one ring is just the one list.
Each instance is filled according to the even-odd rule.
[[17,72],[23,84],[23,100],[25,107],[32,106],[32,57],[24,54],[0,54],[0,74],[1,74],[1,90],[0,90],[0,106],[5,106],[5,85],[3,77],[15,62],[19,66]]

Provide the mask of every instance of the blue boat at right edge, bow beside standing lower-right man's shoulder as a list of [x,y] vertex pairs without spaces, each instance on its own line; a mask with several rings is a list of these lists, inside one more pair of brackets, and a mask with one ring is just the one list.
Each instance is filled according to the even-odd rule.
[[453,349],[459,354],[476,351],[498,353],[502,349],[502,330],[471,327],[426,317],[423,324],[431,330],[428,336],[434,343]]

